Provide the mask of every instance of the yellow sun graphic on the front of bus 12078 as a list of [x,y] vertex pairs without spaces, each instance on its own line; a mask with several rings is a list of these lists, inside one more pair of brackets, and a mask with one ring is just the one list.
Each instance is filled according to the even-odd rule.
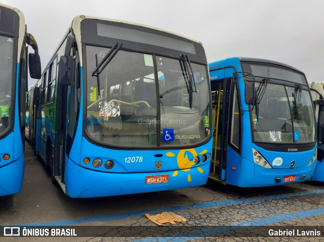
[[[199,156],[204,155],[207,153],[207,150],[203,150],[202,152],[199,153]],[[189,158],[188,158],[189,155]],[[166,156],[168,157],[175,157],[176,154],[172,153],[172,152],[168,152],[166,154]],[[195,149],[187,149],[187,150],[180,150],[178,155],[177,155],[177,163],[179,166],[179,169],[181,171],[185,171],[188,172],[190,171],[191,167],[194,165],[194,158],[197,157],[197,152]],[[201,169],[200,167],[197,167],[197,170],[200,173],[203,173],[204,170]],[[178,175],[179,170],[174,171],[172,176],[177,176]],[[191,181],[191,176],[190,174],[188,174],[188,182]]]

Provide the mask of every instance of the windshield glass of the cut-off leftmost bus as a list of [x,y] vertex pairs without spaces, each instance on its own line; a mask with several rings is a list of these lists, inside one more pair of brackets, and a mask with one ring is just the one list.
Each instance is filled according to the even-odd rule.
[[11,123],[14,39],[0,35],[0,135]]

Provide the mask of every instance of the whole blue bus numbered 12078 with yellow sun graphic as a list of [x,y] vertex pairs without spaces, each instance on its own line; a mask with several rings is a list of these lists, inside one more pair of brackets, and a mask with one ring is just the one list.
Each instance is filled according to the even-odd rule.
[[32,147],[69,197],[207,182],[212,106],[200,42],[77,16],[32,92]]

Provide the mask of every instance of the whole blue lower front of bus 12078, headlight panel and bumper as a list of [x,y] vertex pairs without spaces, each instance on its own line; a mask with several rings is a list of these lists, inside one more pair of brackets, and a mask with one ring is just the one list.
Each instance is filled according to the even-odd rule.
[[[207,182],[211,159],[199,162],[188,169],[180,169],[181,159],[185,156],[193,158],[193,150],[197,154],[207,150],[211,153],[212,139],[204,146],[185,150],[111,150],[90,143],[82,138],[81,156],[77,161],[68,159],[65,168],[66,193],[72,198],[88,198],[125,195],[150,191],[178,189],[184,187],[204,185]],[[175,156],[167,156],[173,153]],[[155,157],[155,154],[163,154]],[[190,156],[191,155],[191,156]],[[125,157],[143,157],[142,162],[125,162]],[[201,157],[201,155],[198,155]],[[90,158],[85,164],[84,158]],[[92,166],[92,161],[100,158],[103,164],[99,168]],[[81,160],[81,162],[80,162]],[[114,167],[108,170],[104,167],[107,160],[114,161]],[[162,168],[155,169],[155,162],[161,161]],[[174,167],[177,166],[175,173]],[[147,175],[169,174],[169,182],[146,184]]]

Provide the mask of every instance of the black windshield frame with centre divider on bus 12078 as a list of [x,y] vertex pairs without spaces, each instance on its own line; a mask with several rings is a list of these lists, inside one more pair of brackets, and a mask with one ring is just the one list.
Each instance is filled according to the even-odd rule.
[[[157,135],[157,143],[156,143],[156,146],[120,146],[120,145],[114,145],[114,144],[108,144],[108,143],[105,143],[105,142],[101,142],[100,140],[96,140],[94,139],[89,131],[88,131],[88,128],[87,128],[87,54],[86,54],[86,51],[87,51],[87,45],[91,45],[91,46],[98,46],[98,47],[105,47],[105,48],[108,48],[110,49],[112,47],[112,45],[109,45],[109,44],[98,44],[98,43],[92,43],[92,42],[82,42],[82,52],[83,52],[83,86],[84,86],[84,90],[83,90],[83,98],[84,98],[84,104],[83,104],[83,107],[81,107],[83,109],[83,136],[87,138],[88,141],[90,141],[91,143],[97,145],[97,146],[100,146],[100,147],[103,147],[103,148],[109,148],[109,149],[116,149],[116,150],[131,150],[131,149],[134,149],[134,150],[160,150],[160,149],[163,149],[163,150],[167,150],[167,149],[170,149],[170,150],[177,150],[177,149],[189,149],[189,148],[196,148],[196,147],[199,147],[199,146],[202,146],[206,143],[208,143],[210,141],[210,139],[212,138],[212,134],[211,134],[211,131],[209,132],[209,134],[201,141],[199,142],[196,142],[194,144],[176,144],[176,145],[163,145],[161,146],[160,145],[160,138],[159,138],[159,135]],[[159,121],[160,122],[160,107],[159,107],[159,87],[158,87],[158,74],[157,74],[157,66],[156,66],[156,56],[161,56],[161,57],[166,57],[166,58],[171,58],[171,59],[175,59],[177,61],[181,61],[182,59],[179,57],[175,57],[174,55],[165,55],[165,54],[160,54],[158,52],[151,52],[151,51],[147,51],[147,52],[144,52],[144,51],[140,51],[140,50],[137,50],[137,49],[132,49],[131,48],[132,46],[125,46],[123,45],[122,47],[120,47],[120,51],[128,51],[128,52],[134,52],[134,53],[140,53],[140,54],[147,54],[147,55],[152,55],[153,57],[153,64],[154,64],[154,76],[155,76],[155,88],[156,88],[156,111],[157,111],[157,120],[156,121]],[[190,58],[190,56],[189,56]],[[207,85],[208,85],[208,89],[209,89],[209,100],[211,102],[211,85],[210,85],[210,79],[209,79],[209,71],[208,71],[208,63],[206,62],[199,62],[199,61],[196,61],[196,60],[192,60],[190,59],[190,62],[191,63],[194,63],[194,64],[198,64],[198,65],[202,65],[202,66],[205,66],[205,70],[206,70],[206,73],[207,73]],[[109,64],[108,64],[109,65]],[[92,70],[91,70],[92,71]],[[211,114],[212,113],[212,107],[211,105],[209,105],[209,113]],[[156,133],[158,133],[160,131],[160,123],[157,122],[157,131]],[[211,125],[212,122],[210,122],[210,125]],[[210,126],[210,130],[211,130],[211,126]]]

